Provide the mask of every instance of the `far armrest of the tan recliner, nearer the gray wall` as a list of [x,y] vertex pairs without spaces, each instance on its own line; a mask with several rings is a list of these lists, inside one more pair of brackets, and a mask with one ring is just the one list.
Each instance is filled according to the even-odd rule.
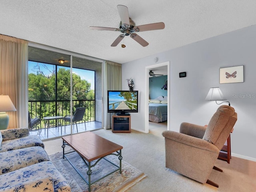
[[183,122],[180,124],[180,133],[202,139],[207,127]]

